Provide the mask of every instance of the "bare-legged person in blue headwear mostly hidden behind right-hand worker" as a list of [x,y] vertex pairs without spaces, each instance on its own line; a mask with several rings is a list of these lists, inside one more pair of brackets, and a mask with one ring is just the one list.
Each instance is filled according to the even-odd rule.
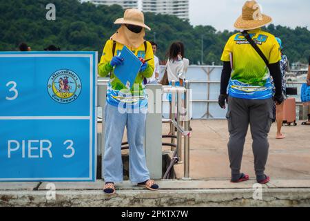
[[[289,72],[289,59],[287,59],[286,55],[283,55],[282,53],[282,40],[278,37],[276,37],[276,40],[278,41],[278,44],[280,46],[281,50],[281,60],[280,60],[280,69],[282,74],[282,93],[285,99],[287,98],[287,83],[286,83],[286,77],[285,73]],[[285,139],[285,135],[281,133],[282,129],[282,123],[283,123],[283,106],[284,102],[280,105],[276,105],[276,121],[277,121],[277,135],[276,139]]]

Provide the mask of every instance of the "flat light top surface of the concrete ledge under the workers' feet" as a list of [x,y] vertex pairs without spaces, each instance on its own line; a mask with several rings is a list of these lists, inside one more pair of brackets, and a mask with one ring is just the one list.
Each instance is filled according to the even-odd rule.
[[[48,184],[54,184],[57,190],[102,190],[103,180],[96,182],[0,182],[0,191],[45,191],[50,189]],[[162,190],[173,189],[253,189],[255,180],[249,180],[239,184],[233,184],[229,180],[157,180],[156,183]],[[309,188],[310,180],[271,180],[268,184],[262,185],[263,189],[300,189]],[[143,188],[125,181],[116,185],[118,190],[142,190]]]

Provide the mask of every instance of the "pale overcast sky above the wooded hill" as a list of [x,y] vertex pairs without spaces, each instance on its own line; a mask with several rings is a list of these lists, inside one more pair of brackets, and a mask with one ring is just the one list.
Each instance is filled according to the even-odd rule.
[[[307,26],[310,30],[310,0],[257,0],[262,14],[281,26]],[[234,30],[245,0],[189,0],[189,20],[192,25],[211,25],[216,30]]]

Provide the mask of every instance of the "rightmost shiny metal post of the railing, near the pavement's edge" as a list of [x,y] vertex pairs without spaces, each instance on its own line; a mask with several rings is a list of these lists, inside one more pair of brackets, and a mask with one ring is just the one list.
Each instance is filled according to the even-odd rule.
[[[185,131],[189,132],[190,113],[189,113],[189,81],[185,81],[185,110],[186,119],[184,122]],[[189,134],[184,136],[184,178],[189,179]]]

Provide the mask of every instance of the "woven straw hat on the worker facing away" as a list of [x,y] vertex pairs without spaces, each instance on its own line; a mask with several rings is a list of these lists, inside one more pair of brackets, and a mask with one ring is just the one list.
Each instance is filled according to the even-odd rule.
[[260,6],[254,0],[245,2],[242,15],[238,17],[234,27],[238,30],[253,30],[271,23],[271,17],[260,12]]

